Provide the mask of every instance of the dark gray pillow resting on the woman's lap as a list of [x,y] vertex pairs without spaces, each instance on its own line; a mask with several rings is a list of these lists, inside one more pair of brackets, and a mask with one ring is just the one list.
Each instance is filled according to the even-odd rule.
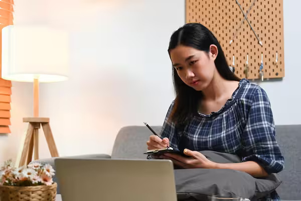
[[[240,162],[233,154],[201,151],[219,163]],[[178,200],[208,200],[214,194],[232,195],[257,200],[274,191],[281,183],[275,174],[266,178],[231,169],[175,169]]]

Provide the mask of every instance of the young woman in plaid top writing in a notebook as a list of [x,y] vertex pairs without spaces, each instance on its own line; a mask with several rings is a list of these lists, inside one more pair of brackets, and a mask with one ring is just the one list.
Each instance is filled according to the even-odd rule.
[[[191,157],[166,153],[182,168],[221,168],[264,177],[283,169],[275,126],[265,91],[239,79],[229,69],[215,36],[192,23],[171,36],[168,49],[176,99],[165,119],[161,139],[150,136],[148,149],[171,146]],[[215,163],[198,151],[237,154],[241,163]],[[277,199],[277,193],[271,194]]]

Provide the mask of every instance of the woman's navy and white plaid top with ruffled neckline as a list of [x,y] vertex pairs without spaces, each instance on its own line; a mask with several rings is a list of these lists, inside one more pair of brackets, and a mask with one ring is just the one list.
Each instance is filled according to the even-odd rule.
[[[275,125],[265,91],[242,79],[231,99],[218,112],[194,116],[184,129],[169,121],[170,106],[160,137],[170,139],[170,146],[183,150],[213,150],[237,154],[241,161],[255,161],[267,173],[283,169],[284,158],[275,140]],[[276,192],[272,200],[280,200]],[[266,200],[267,198],[265,198]]]

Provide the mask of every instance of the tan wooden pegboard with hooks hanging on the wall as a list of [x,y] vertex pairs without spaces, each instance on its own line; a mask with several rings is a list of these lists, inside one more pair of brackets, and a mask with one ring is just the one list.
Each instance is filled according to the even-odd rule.
[[[253,0],[238,0],[246,14]],[[201,23],[219,40],[228,64],[235,56],[235,74],[245,77],[248,54],[248,79],[258,79],[261,53],[264,78],[284,77],[283,0],[257,0],[247,18],[263,43],[261,46],[244,20],[236,38],[233,35],[244,16],[236,0],[186,0],[186,23]],[[277,62],[276,62],[277,54]]]

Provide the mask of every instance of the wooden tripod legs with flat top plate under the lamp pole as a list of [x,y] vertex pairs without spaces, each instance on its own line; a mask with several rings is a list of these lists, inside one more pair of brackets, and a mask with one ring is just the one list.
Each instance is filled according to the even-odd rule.
[[[58,157],[58,150],[49,125],[49,118],[27,117],[23,122],[28,122],[28,130],[24,141],[24,147],[19,163],[19,167],[28,165],[32,161],[33,150],[35,150],[34,159],[39,159],[39,129],[43,128],[45,138],[50,150],[51,157]],[[35,147],[35,149],[34,149]]]

